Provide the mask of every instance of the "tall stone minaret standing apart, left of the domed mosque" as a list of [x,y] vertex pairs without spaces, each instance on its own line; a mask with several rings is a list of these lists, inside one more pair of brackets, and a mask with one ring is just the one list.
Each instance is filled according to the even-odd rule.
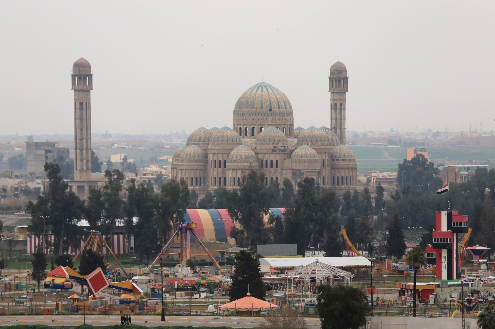
[[74,90],[74,180],[91,179],[91,65],[79,58],[72,66]]

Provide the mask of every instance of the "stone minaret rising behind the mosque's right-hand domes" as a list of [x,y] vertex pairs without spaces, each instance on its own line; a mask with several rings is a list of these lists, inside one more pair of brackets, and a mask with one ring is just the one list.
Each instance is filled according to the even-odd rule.
[[341,62],[334,63],[328,77],[331,128],[344,146],[347,146],[347,80],[347,67]]

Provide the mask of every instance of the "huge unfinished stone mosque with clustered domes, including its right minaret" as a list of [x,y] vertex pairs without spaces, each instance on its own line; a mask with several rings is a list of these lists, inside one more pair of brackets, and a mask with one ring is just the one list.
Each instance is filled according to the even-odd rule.
[[357,187],[357,164],[347,148],[347,68],[330,68],[331,127],[294,128],[292,104],[274,86],[261,82],[247,89],[234,106],[233,126],[193,131],[177,150],[171,177],[184,178],[199,195],[219,186],[239,187],[251,170],[265,184],[297,182],[305,177],[342,196]]

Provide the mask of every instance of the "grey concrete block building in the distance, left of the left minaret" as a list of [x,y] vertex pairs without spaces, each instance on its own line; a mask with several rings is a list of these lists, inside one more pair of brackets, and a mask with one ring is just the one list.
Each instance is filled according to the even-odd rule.
[[44,165],[55,160],[58,155],[64,160],[69,159],[68,147],[57,147],[55,142],[27,142],[26,143],[26,168],[27,172],[41,174],[45,172]]

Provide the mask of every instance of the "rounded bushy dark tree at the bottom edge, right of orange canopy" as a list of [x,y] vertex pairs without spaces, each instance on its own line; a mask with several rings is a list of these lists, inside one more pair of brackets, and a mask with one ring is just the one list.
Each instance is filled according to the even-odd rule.
[[371,315],[366,293],[356,287],[337,284],[316,287],[316,311],[322,329],[359,329]]

